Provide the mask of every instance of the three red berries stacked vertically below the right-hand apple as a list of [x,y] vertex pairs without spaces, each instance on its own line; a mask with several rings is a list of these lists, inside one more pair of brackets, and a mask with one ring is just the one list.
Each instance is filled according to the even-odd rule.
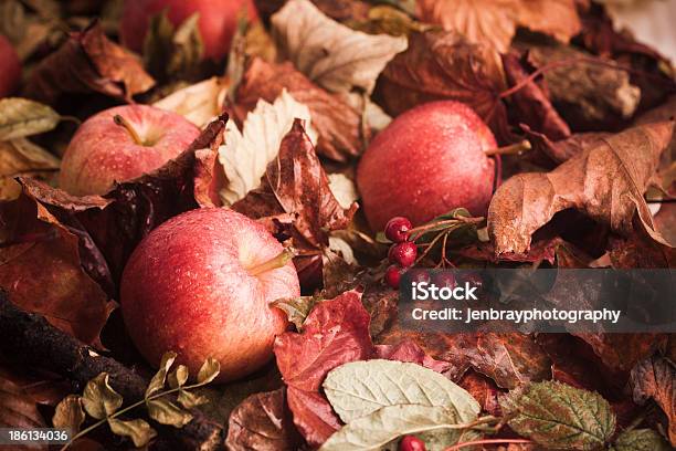
[[390,248],[388,259],[392,263],[385,271],[385,282],[393,289],[399,287],[401,275],[415,263],[418,247],[409,241],[409,232],[413,228],[408,218],[395,217],[385,226],[385,237],[394,244]]

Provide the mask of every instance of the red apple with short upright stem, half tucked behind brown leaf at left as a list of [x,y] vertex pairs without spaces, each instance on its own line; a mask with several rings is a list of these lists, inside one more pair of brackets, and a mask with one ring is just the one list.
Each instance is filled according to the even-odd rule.
[[148,105],[103,111],[84,122],[61,164],[61,188],[104,195],[177,157],[200,130],[182,116]]

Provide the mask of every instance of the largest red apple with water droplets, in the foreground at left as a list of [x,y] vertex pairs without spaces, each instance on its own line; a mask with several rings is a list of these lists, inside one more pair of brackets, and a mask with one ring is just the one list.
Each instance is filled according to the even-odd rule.
[[271,359],[288,322],[270,303],[299,295],[291,254],[262,224],[224,208],[191,210],[150,232],[120,285],[125,324],[150,364],[175,350],[197,373],[214,357],[221,381]]

